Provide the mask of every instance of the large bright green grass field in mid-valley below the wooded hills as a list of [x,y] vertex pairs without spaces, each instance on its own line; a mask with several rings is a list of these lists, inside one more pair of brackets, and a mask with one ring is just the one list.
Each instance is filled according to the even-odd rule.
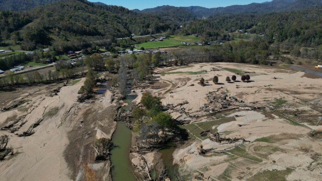
[[147,48],[160,48],[160,47],[182,45],[181,42],[195,43],[195,42],[199,42],[200,39],[201,39],[200,37],[195,37],[195,36],[172,35],[171,37],[164,39],[163,42],[146,42],[146,43],[140,43],[137,45],[140,47],[144,47],[146,49]]

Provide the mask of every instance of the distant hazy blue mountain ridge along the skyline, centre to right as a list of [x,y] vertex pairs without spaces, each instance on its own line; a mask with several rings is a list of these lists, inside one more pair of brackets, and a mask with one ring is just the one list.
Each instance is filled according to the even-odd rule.
[[[200,6],[189,6],[189,7],[174,7],[167,6],[166,9],[171,9],[173,11],[178,11],[181,14],[183,10],[192,13],[198,18],[207,17],[213,14],[262,14],[271,12],[285,12],[301,10],[315,5],[322,5],[321,0],[273,0],[271,2],[264,3],[251,3],[249,5],[232,5],[227,7],[217,7],[217,8],[205,8]],[[135,10],[137,12],[143,13],[154,13],[162,15],[165,11],[166,6],[158,6],[155,8],[144,9],[142,11]],[[189,17],[191,17],[190,15]]]

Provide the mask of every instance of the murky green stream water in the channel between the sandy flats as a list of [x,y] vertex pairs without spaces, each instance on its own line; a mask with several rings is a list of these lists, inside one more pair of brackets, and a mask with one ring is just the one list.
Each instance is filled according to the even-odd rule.
[[[104,94],[106,90],[110,90],[112,81],[102,82],[103,87],[99,87],[96,91],[98,94]],[[127,85],[127,94],[131,93],[129,84]],[[136,95],[128,95],[124,102],[128,103],[127,106],[122,107],[124,110],[128,110],[132,107],[132,101],[135,100]],[[134,168],[130,160],[129,149],[131,148],[132,132],[128,129],[124,122],[119,121],[112,137],[113,148],[110,151],[110,161],[113,164],[112,167],[112,180],[113,181],[136,181]],[[159,150],[162,154],[163,162],[168,169],[168,174],[173,179],[174,166],[172,154],[175,151],[175,144],[169,143],[166,148]]]

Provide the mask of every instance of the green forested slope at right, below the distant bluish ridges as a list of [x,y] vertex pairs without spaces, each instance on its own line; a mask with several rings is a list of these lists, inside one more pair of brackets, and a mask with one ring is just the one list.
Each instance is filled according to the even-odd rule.
[[271,43],[291,48],[295,44],[316,47],[322,44],[322,6],[271,14],[212,16],[187,24],[184,34],[199,34],[208,41],[229,40],[229,33],[255,33]]

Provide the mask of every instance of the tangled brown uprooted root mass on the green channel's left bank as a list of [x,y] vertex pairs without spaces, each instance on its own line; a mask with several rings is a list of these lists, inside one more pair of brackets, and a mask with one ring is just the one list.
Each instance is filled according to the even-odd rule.
[[109,156],[109,149],[112,147],[113,142],[108,138],[99,138],[92,145],[96,154],[95,160],[106,160]]

